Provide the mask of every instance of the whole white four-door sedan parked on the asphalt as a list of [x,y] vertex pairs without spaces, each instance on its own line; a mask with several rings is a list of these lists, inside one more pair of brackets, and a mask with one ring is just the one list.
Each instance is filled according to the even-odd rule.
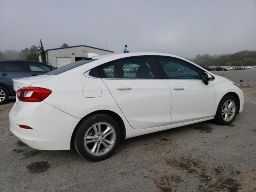
[[84,58],[13,82],[11,132],[35,149],[74,145],[91,161],[108,158],[122,139],[211,119],[228,125],[244,105],[238,84],[161,53]]

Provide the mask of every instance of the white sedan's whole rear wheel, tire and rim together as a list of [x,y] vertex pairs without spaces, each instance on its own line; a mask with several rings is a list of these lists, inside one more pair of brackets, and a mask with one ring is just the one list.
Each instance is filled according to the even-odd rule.
[[120,128],[112,117],[96,114],[78,125],[74,147],[83,158],[101,161],[114,153],[120,137]]

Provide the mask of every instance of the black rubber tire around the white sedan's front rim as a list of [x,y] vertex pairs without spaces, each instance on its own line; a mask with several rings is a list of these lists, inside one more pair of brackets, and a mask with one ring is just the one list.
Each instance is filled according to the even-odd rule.
[[[234,116],[233,118],[230,120],[230,121],[225,121],[223,116],[222,116],[222,107],[224,105],[224,103],[228,100],[232,100],[234,101],[235,103],[235,107],[236,107],[236,111],[234,112]],[[218,108],[217,108],[217,111],[216,111],[216,115],[215,115],[215,118],[214,118],[214,121],[217,123],[217,124],[220,124],[220,125],[229,125],[231,124],[234,119],[236,118],[236,114],[237,114],[237,110],[238,110],[238,104],[237,104],[237,100],[234,96],[232,95],[225,95],[222,100],[220,100],[220,103],[218,105]]]

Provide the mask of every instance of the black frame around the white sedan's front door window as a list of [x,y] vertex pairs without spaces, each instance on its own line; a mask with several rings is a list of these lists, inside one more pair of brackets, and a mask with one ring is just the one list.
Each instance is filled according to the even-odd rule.
[[[159,60],[158,60],[157,57],[172,58],[172,59],[176,59],[176,60],[180,60],[180,61],[182,61],[182,62],[185,62],[185,63],[187,63],[187,64],[189,64],[189,65],[191,65],[191,66],[194,66],[194,67],[196,68],[196,70],[197,70],[197,72],[198,72],[198,74],[199,74],[199,76],[200,76],[201,79],[169,79],[168,76],[167,76],[167,74],[166,74],[166,72],[164,71],[163,66],[161,65],[161,63],[159,62]],[[158,64],[158,68],[160,69],[160,72],[161,72],[162,77],[164,78],[164,80],[200,80],[200,81],[202,81],[202,76],[201,76],[200,72],[198,71],[198,66],[195,66],[194,64],[192,64],[192,63],[190,63],[190,62],[187,62],[187,61],[185,61],[185,60],[183,60],[183,59],[180,59],[180,58],[177,58],[177,57],[161,56],[161,55],[155,55],[155,56],[154,56],[154,60],[155,60],[156,63]],[[200,70],[202,70],[202,71],[208,73],[207,71],[205,71],[205,70],[203,70],[203,69],[201,69],[201,68],[200,68]],[[210,74],[210,75],[212,76],[212,74]],[[212,76],[211,81],[213,81],[213,80],[215,80],[214,76]]]

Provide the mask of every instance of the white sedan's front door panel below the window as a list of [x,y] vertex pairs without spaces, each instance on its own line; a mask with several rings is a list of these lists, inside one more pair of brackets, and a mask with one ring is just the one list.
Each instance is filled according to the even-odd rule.
[[[172,91],[172,121],[184,122],[214,116],[215,89],[213,82],[202,80],[166,79]],[[181,87],[184,90],[174,90]],[[206,99],[207,98],[207,99]]]

